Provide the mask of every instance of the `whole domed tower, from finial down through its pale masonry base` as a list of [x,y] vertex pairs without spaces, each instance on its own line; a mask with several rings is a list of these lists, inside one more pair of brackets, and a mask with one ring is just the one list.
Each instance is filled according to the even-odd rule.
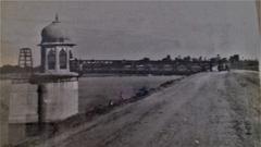
[[61,122],[78,113],[78,74],[70,72],[70,51],[75,46],[55,20],[41,30],[41,72],[35,73],[38,122]]

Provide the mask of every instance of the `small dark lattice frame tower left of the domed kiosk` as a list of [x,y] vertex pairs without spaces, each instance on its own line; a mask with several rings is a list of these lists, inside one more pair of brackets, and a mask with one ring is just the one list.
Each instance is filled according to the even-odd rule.
[[33,69],[33,57],[30,48],[20,49],[18,66]]

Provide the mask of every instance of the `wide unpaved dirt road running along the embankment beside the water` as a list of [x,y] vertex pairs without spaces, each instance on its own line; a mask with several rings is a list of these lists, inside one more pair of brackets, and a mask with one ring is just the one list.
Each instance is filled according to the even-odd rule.
[[46,146],[256,147],[259,96],[257,73],[200,73],[116,108]]

